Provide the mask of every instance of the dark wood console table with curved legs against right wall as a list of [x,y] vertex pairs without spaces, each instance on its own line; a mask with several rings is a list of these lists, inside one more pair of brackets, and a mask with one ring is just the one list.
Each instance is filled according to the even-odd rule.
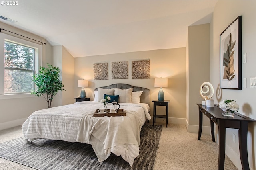
[[226,143],[226,128],[234,128],[238,130],[239,136],[239,152],[240,160],[243,170],[249,170],[248,152],[247,152],[247,132],[248,123],[256,121],[239,113],[235,113],[234,117],[224,117],[221,114],[221,109],[214,105],[214,107],[206,107],[202,104],[197,104],[199,107],[199,129],[198,129],[198,140],[201,138],[203,114],[206,115],[210,120],[212,141],[215,142],[214,137],[214,123],[218,125],[219,129],[219,158],[218,158],[218,170],[224,169],[225,163],[225,143]]

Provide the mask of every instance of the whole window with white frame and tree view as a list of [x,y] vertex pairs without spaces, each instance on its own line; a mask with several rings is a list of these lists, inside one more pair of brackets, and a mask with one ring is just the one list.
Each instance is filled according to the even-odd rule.
[[32,92],[41,51],[42,45],[0,34],[0,98]]

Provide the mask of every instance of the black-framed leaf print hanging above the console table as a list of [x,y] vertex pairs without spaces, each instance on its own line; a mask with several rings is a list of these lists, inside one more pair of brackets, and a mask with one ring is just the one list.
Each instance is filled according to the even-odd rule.
[[242,89],[242,16],[220,34],[220,88]]

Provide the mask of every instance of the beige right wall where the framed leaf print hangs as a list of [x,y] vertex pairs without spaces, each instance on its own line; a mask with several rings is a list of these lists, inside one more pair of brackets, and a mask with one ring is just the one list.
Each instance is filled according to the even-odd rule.
[[[239,113],[256,119],[256,89],[250,88],[250,77],[256,77],[254,71],[256,63],[255,38],[256,38],[256,1],[255,0],[218,0],[213,14],[211,23],[211,70],[210,80],[214,89],[219,86],[219,41],[220,34],[228,25],[238,16],[242,15],[242,54],[247,53],[247,63],[242,64],[242,78],[247,79],[247,88],[242,90],[218,89],[220,94],[214,93],[215,104],[224,99],[233,99],[240,105]],[[256,158],[256,123],[249,124],[248,131],[248,157],[250,169],[255,170]],[[236,143],[232,141],[232,134],[236,135]],[[239,147],[238,147],[238,130],[226,129],[226,154],[241,168]]]

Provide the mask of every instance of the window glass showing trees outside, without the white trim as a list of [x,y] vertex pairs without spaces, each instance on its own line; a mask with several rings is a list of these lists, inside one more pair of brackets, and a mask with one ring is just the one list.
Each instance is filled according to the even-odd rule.
[[4,93],[32,91],[34,56],[34,48],[4,42]]

